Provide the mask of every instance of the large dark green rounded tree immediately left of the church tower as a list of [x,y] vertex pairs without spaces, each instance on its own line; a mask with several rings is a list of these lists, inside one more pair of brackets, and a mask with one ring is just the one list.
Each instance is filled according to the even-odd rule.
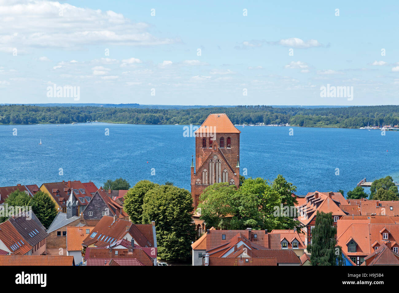
[[172,185],[156,186],[146,193],[143,223],[155,221],[158,256],[164,260],[189,260],[195,240],[191,193]]

